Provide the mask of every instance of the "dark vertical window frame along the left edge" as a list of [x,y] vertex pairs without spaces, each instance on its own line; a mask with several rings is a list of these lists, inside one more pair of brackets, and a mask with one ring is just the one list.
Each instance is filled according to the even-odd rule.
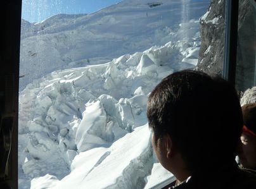
[[[18,80],[22,0],[1,2],[1,13],[4,31],[1,37],[0,147],[3,147],[3,135],[9,137],[11,142],[5,176],[1,175],[0,186],[18,188]],[[11,131],[11,134],[6,134],[3,128]],[[3,166],[4,162],[1,164]]]

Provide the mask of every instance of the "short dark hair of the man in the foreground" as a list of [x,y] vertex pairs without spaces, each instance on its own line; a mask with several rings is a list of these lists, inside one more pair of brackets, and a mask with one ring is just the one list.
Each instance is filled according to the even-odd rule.
[[147,116],[156,140],[168,133],[191,173],[234,161],[243,117],[226,80],[200,71],[172,73],[151,92]]

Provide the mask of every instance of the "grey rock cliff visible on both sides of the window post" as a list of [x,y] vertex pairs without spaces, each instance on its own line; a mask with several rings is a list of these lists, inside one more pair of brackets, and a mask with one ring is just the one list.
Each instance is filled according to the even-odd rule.
[[[238,58],[236,87],[240,91],[255,85],[255,9],[248,0],[240,0],[238,16]],[[202,45],[196,69],[222,75],[224,62],[225,1],[212,0],[200,19]]]

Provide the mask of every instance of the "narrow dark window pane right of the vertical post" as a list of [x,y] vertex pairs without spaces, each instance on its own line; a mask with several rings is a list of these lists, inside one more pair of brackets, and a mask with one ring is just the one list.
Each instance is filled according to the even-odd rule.
[[241,92],[256,86],[256,3],[239,1],[236,86]]

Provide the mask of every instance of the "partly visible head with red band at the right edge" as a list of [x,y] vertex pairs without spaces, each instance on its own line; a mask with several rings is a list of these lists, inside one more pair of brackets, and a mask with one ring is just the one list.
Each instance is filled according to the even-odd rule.
[[244,126],[238,157],[244,168],[256,169],[256,103],[245,104],[242,112]]

